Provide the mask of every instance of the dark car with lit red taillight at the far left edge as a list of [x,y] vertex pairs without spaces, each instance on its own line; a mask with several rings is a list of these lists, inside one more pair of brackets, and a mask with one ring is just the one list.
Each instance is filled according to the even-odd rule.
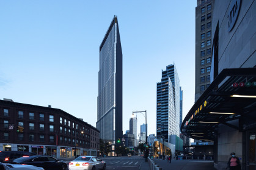
[[33,156],[36,155],[32,152],[23,152],[23,151],[0,151],[0,162],[2,163],[11,163],[12,160],[20,158],[23,156]]

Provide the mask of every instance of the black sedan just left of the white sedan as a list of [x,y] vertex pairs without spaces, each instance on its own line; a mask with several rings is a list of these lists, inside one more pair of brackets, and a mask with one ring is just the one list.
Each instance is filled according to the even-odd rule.
[[57,160],[54,157],[40,155],[16,158],[12,162],[26,165],[34,165],[42,167],[45,170],[65,170],[67,168],[67,164],[62,160]]

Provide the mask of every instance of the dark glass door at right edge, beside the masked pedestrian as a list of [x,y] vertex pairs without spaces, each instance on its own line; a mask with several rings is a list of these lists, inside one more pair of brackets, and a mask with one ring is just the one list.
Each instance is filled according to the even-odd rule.
[[249,166],[249,170],[256,170],[256,133],[251,134],[249,138],[249,160],[247,161],[247,166]]

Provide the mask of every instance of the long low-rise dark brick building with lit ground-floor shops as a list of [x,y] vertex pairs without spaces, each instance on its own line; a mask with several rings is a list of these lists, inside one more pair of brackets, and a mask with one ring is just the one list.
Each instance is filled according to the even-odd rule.
[[[58,108],[0,100],[0,151],[56,158],[97,155],[100,131]],[[23,127],[23,132],[17,132]],[[76,151],[76,152],[75,152]]]

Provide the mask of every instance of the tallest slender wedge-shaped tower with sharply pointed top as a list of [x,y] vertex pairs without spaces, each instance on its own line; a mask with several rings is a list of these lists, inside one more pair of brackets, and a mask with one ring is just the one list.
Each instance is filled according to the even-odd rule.
[[[123,135],[123,54],[117,16],[100,44],[97,129],[100,138],[116,144]],[[112,150],[114,148],[112,147]],[[114,152],[112,152],[113,154]]]

